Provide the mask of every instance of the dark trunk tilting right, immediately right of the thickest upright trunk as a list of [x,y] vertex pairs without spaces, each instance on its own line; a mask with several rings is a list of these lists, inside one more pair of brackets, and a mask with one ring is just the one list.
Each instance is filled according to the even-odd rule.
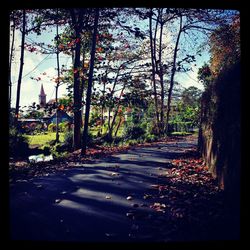
[[88,79],[88,88],[86,94],[86,110],[85,110],[85,119],[84,119],[84,131],[82,138],[82,151],[81,154],[86,154],[87,143],[88,143],[88,126],[89,126],[89,111],[91,105],[91,91],[93,83],[93,72],[95,64],[95,50],[96,50],[96,36],[98,28],[98,19],[99,19],[99,9],[95,9],[95,20],[94,20],[94,32],[92,37],[92,48],[91,48],[91,58],[90,58],[90,67],[89,67],[89,79]]

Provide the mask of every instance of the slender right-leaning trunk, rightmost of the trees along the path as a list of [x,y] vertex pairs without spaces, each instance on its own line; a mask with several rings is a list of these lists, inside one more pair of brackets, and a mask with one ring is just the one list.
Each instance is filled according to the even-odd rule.
[[171,72],[171,78],[170,78],[170,86],[168,90],[168,103],[167,103],[167,117],[166,117],[166,134],[168,134],[168,123],[169,123],[169,116],[170,116],[170,110],[171,110],[171,98],[172,98],[172,91],[174,87],[174,76],[176,72],[176,58],[177,58],[177,51],[178,51],[178,45],[180,41],[180,36],[182,32],[182,16],[180,16],[180,28],[177,36],[177,40],[175,43],[175,48],[174,48],[174,57],[173,57],[173,66],[172,66],[172,72]]

